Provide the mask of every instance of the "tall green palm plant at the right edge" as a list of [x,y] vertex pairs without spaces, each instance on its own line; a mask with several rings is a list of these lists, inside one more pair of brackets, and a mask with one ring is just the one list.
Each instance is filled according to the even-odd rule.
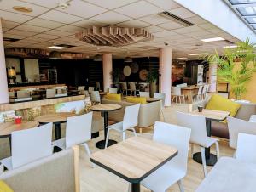
[[247,82],[256,72],[255,43],[247,38],[236,45],[237,48],[225,48],[223,55],[215,51],[215,54],[205,54],[201,59],[207,60],[209,65],[217,64],[218,80],[230,83],[231,92],[236,99],[241,99],[241,95],[247,92]]

